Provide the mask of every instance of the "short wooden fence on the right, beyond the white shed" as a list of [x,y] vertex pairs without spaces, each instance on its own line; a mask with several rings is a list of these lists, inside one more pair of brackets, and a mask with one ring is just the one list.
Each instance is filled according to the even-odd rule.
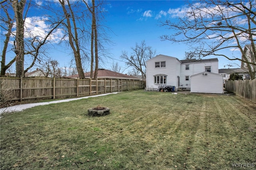
[[256,79],[226,81],[225,89],[226,91],[256,103]]

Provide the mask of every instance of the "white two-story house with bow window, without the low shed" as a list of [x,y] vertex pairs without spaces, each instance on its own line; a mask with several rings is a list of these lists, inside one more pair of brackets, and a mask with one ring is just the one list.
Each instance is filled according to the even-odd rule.
[[[176,57],[157,55],[146,61],[146,66],[146,87],[153,88],[154,90],[159,85],[175,86],[176,91],[179,88],[190,89],[192,75],[205,72],[218,74],[217,58],[179,60]],[[202,79],[202,81],[205,80]],[[202,82],[202,84],[205,84],[205,82]],[[216,91],[216,93],[219,91]],[[209,91],[208,93],[213,92]]]

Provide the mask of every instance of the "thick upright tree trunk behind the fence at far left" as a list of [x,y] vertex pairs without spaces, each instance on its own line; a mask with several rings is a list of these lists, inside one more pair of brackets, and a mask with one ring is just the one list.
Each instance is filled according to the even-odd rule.
[[24,77],[24,20],[23,11],[26,0],[12,1],[14,16],[16,18],[16,38],[15,38],[15,53],[16,53],[16,77]]

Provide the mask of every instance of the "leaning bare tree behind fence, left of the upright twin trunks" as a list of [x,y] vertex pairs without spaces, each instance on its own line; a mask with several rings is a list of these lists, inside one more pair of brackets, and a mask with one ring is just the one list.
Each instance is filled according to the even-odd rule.
[[80,54],[80,43],[79,43],[80,37],[78,36],[78,30],[80,28],[78,28],[76,25],[77,20],[76,20],[75,13],[73,12],[72,4],[70,4],[70,0],[58,0],[58,1],[62,6],[62,10],[66,18],[66,23],[64,24],[64,26],[68,30],[68,42],[74,53],[78,76],[80,79],[84,79],[85,78],[84,70],[82,67],[81,54]]

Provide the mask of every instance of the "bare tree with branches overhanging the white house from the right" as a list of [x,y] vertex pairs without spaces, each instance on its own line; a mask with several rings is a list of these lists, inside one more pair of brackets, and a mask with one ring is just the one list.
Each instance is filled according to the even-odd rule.
[[[255,0],[204,0],[188,2],[186,14],[178,22],[166,20],[162,26],[176,30],[172,35],[161,36],[162,40],[184,42],[195,49],[198,58],[208,55],[226,57],[249,65],[256,65],[256,2]],[[181,36],[183,35],[183,36]],[[243,47],[252,46],[248,60]],[[242,58],[225,55],[224,50],[239,50]],[[248,73],[255,79],[255,70],[248,67]]]

